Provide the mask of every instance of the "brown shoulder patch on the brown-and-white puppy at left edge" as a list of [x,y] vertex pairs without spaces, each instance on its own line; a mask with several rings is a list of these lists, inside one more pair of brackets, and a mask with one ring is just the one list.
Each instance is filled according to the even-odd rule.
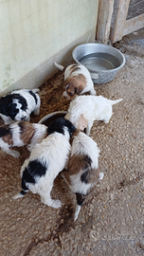
[[28,144],[31,138],[34,136],[35,129],[32,124],[28,121],[20,121],[18,125],[21,128],[21,140],[24,141],[25,144]]

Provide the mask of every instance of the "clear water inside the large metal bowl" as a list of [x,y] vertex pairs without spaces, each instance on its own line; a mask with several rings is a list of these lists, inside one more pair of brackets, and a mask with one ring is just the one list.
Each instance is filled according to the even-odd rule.
[[108,53],[91,53],[82,57],[79,62],[89,70],[110,70],[117,68],[119,62],[117,58]]

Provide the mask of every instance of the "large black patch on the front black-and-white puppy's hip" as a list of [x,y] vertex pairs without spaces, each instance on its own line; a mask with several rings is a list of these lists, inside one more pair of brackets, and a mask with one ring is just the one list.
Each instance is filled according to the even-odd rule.
[[38,160],[30,161],[27,168],[24,170],[22,177],[22,189],[28,190],[26,183],[36,183],[36,178],[45,175],[46,166]]

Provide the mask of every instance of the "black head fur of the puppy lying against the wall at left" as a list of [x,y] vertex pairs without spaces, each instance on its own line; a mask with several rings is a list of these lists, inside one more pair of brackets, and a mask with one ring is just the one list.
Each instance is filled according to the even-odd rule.
[[21,109],[24,111],[27,110],[27,101],[23,96],[15,93],[0,98],[0,113],[14,120],[19,109],[16,108],[17,104],[13,100],[18,100],[21,104]]

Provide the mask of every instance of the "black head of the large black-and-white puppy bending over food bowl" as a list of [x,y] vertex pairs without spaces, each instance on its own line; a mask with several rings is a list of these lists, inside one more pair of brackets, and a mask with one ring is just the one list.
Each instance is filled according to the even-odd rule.
[[72,136],[73,132],[76,130],[76,127],[71,123],[71,121],[60,118],[55,119],[49,124],[47,128],[48,135],[53,134],[55,132],[64,135],[64,127],[67,127],[70,136]]

